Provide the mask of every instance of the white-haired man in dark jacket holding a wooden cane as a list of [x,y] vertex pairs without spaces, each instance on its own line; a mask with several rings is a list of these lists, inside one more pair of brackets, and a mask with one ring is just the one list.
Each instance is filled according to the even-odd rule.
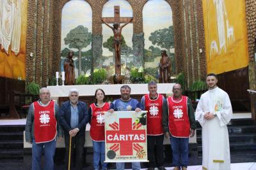
[[68,164],[69,141],[72,138],[71,151],[76,148],[76,169],[82,169],[88,111],[86,103],[78,101],[77,89],[70,89],[68,97],[69,101],[63,103],[60,108],[60,124],[63,126],[65,136],[65,162]]

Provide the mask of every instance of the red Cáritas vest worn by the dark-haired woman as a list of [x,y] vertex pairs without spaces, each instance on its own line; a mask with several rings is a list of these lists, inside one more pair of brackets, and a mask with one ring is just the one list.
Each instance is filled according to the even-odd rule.
[[105,103],[101,107],[96,106],[94,103],[90,106],[92,109],[90,136],[93,141],[105,141],[104,111],[108,111],[109,106],[109,103]]

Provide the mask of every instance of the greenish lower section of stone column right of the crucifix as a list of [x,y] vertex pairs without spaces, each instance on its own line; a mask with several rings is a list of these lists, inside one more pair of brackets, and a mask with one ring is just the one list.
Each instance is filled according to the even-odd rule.
[[132,49],[133,49],[133,64],[135,67],[144,67],[143,50],[144,50],[144,33],[133,34]]

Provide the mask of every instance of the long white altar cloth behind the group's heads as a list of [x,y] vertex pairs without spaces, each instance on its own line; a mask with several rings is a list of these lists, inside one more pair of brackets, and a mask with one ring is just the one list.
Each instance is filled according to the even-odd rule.
[[[120,87],[118,85],[60,85],[48,86],[51,97],[68,97],[68,91],[76,88],[79,90],[79,96],[94,96],[96,89],[104,90],[106,95],[120,95]],[[131,87],[131,94],[148,94],[147,84],[127,84]],[[174,83],[157,83],[157,92],[159,94],[172,94]]]

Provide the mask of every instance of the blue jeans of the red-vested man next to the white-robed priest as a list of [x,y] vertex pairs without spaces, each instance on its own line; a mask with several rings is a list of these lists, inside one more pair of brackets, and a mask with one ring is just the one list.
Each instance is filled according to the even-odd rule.
[[177,167],[188,167],[188,138],[170,136],[173,165]]

